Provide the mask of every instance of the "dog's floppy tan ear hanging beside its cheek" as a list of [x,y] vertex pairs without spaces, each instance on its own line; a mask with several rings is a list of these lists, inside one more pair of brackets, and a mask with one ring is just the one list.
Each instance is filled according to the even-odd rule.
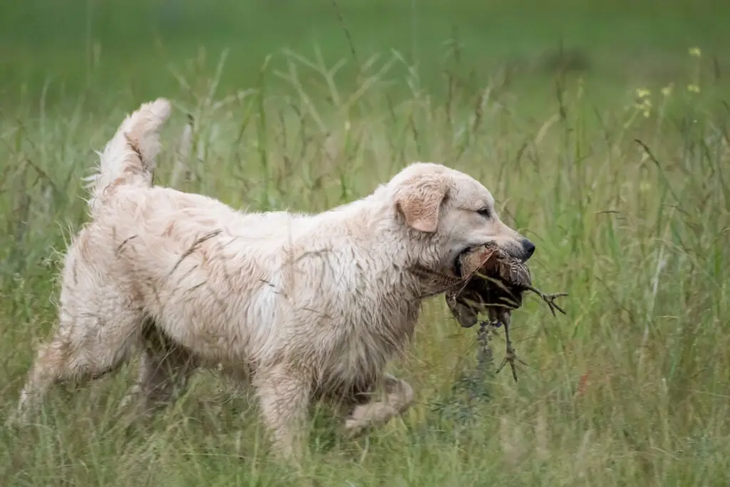
[[442,175],[418,175],[396,190],[396,209],[412,229],[433,233],[439,226],[439,210],[448,185]]

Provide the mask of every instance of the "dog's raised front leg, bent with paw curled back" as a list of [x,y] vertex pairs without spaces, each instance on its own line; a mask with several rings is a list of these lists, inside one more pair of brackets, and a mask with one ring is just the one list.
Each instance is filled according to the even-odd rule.
[[345,428],[350,435],[383,425],[394,416],[404,413],[412,404],[413,388],[409,383],[391,375],[386,375],[383,382],[385,397],[380,401],[359,404],[345,420]]

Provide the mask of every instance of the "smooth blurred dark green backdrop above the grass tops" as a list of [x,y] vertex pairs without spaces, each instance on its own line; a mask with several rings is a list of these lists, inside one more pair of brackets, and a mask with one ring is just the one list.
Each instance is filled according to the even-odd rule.
[[[382,64],[395,50],[404,62],[388,72],[393,89],[418,66],[435,94],[455,43],[453,64],[474,88],[507,73],[523,93],[545,89],[560,45],[569,66],[607,93],[677,81],[691,46],[718,77],[730,58],[730,2],[721,0],[5,0],[1,12],[4,107],[37,100],[44,87],[49,104],[81,93],[174,96],[176,74],[191,64],[212,71],[226,49],[220,93],[255,85],[267,55],[283,69],[286,49],[310,59],[319,50],[327,66],[351,61],[353,48],[359,64],[374,55]],[[353,72],[342,70],[339,85]]]

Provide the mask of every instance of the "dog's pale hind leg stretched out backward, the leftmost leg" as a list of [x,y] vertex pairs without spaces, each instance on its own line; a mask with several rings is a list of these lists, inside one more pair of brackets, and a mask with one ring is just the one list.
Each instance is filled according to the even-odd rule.
[[26,423],[37,413],[53,384],[99,378],[118,369],[129,358],[139,341],[142,319],[138,312],[116,311],[113,321],[101,321],[91,313],[72,316],[61,312],[58,330],[38,350],[20,392],[18,408],[7,423]]

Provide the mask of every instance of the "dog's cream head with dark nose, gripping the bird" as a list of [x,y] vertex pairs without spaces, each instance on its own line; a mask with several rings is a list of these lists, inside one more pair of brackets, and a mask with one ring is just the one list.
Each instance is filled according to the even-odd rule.
[[510,256],[527,261],[535,246],[502,223],[494,198],[481,183],[440,164],[415,163],[388,187],[401,224],[426,239],[427,264],[460,276],[458,257],[493,242]]

